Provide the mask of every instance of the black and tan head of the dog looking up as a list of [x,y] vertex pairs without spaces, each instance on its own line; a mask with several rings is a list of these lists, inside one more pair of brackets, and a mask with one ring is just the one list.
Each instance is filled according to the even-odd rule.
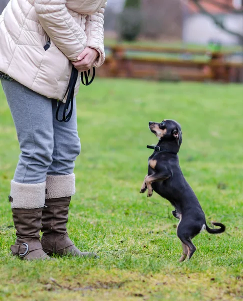
[[160,123],[149,121],[148,127],[159,140],[174,140],[180,146],[182,142],[181,126],[174,120],[163,120]]

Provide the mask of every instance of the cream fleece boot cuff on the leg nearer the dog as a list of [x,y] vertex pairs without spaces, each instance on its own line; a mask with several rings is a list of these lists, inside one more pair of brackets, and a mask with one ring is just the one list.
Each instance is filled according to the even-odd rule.
[[75,175],[46,176],[46,199],[70,197],[75,194]]

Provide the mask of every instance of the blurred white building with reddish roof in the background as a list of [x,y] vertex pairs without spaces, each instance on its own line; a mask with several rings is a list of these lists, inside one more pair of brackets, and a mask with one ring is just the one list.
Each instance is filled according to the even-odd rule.
[[[226,33],[217,27],[210,17],[199,12],[192,1],[183,1],[183,3],[185,3],[183,42],[206,44],[209,40],[214,39],[222,44],[239,44],[239,39],[236,36]],[[232,13],[234,9],[239,9],[242,6],[242,0],[211,2],[201,0],[200,3],[208,13],[215,15],[219,20],[223,20],[223,24],[227,29],[243,34],[243,14]],[[215,3],[221,5],[215,5]],[[229,9],[225,9],[226,6]]]

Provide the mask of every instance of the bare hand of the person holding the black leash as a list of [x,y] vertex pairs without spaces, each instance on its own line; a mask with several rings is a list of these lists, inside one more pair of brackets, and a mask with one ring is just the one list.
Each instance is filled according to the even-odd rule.
[[86,47],[83,52],[81,52],[77,59],[78,62],[71,62],[72,65],[77,69],[77,71],[87,71],[91,68],[92,64],[95,62],[99,53],[93,48]]

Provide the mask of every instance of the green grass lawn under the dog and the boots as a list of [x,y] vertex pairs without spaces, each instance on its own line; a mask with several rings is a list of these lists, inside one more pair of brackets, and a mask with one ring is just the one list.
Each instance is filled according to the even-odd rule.
[[[13,122],[0,90],[1,300],[241,300],[243,298],[243,86],[96,79],[77,97],[82,152],[68,231],[100,258],[23,262],[9,254],[14,228],[7,202],[18,160]],[[17,101],[17,99],[16,99]],[[148,121],[180,122],[180,166],[211,220],[189,262],[170,204],[139,194],[156,143]],[[54,280],[53,280],[54,279]]]

